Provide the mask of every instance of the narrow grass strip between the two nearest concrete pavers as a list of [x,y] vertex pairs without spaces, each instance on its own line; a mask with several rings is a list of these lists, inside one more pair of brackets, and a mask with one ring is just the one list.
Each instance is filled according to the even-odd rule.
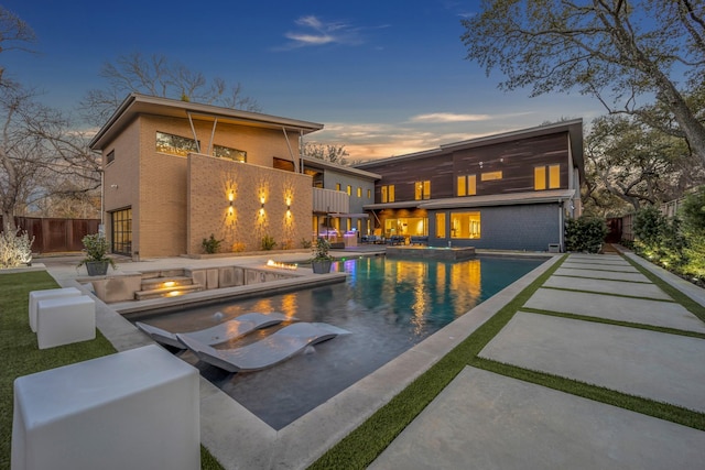
[[665,419],[683,426],[705,430],[705,414],[669,403],[657,402],[641,396],[629,395],[603,386],[573,379],[565,379],[545,372],[532,371],[484,358],[475,358],[470,365],[524,382],[582,396],[584,398],[618,406],[643,415]]

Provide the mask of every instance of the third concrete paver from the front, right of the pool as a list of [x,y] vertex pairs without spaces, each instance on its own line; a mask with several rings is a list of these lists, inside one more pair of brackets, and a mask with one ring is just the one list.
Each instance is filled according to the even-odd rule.
[[674,302],[540,288],[524,307],[705,334],[705,323]]

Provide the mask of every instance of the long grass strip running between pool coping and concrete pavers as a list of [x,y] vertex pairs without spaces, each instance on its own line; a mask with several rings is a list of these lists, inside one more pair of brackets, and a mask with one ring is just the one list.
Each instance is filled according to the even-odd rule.
[[435,398],[558,269],[565,256],[520,292],[443,359],[332,447],[310,469],[365,469]]

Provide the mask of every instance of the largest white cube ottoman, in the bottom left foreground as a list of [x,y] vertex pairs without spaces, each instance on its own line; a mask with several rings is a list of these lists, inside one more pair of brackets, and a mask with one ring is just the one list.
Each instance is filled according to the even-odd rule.
[[198,380],[155,345],[21,376],[11,468],[199,469]]

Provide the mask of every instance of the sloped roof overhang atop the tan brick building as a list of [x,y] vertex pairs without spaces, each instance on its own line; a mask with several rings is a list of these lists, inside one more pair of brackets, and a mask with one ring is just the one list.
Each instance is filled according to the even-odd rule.
[[169,118],[193,119],[195,121],[215,121],[247,125],[250,128],[284,129],[286,132],[307,134],[323,129],[323,124],[296,119],[280,118],[259,112],[241,111],[212,105],[200,105],[141,94],[130,94],[112,113],[108,122],[88,144],[91,150],[102,150],[139,114],[163,116]]

